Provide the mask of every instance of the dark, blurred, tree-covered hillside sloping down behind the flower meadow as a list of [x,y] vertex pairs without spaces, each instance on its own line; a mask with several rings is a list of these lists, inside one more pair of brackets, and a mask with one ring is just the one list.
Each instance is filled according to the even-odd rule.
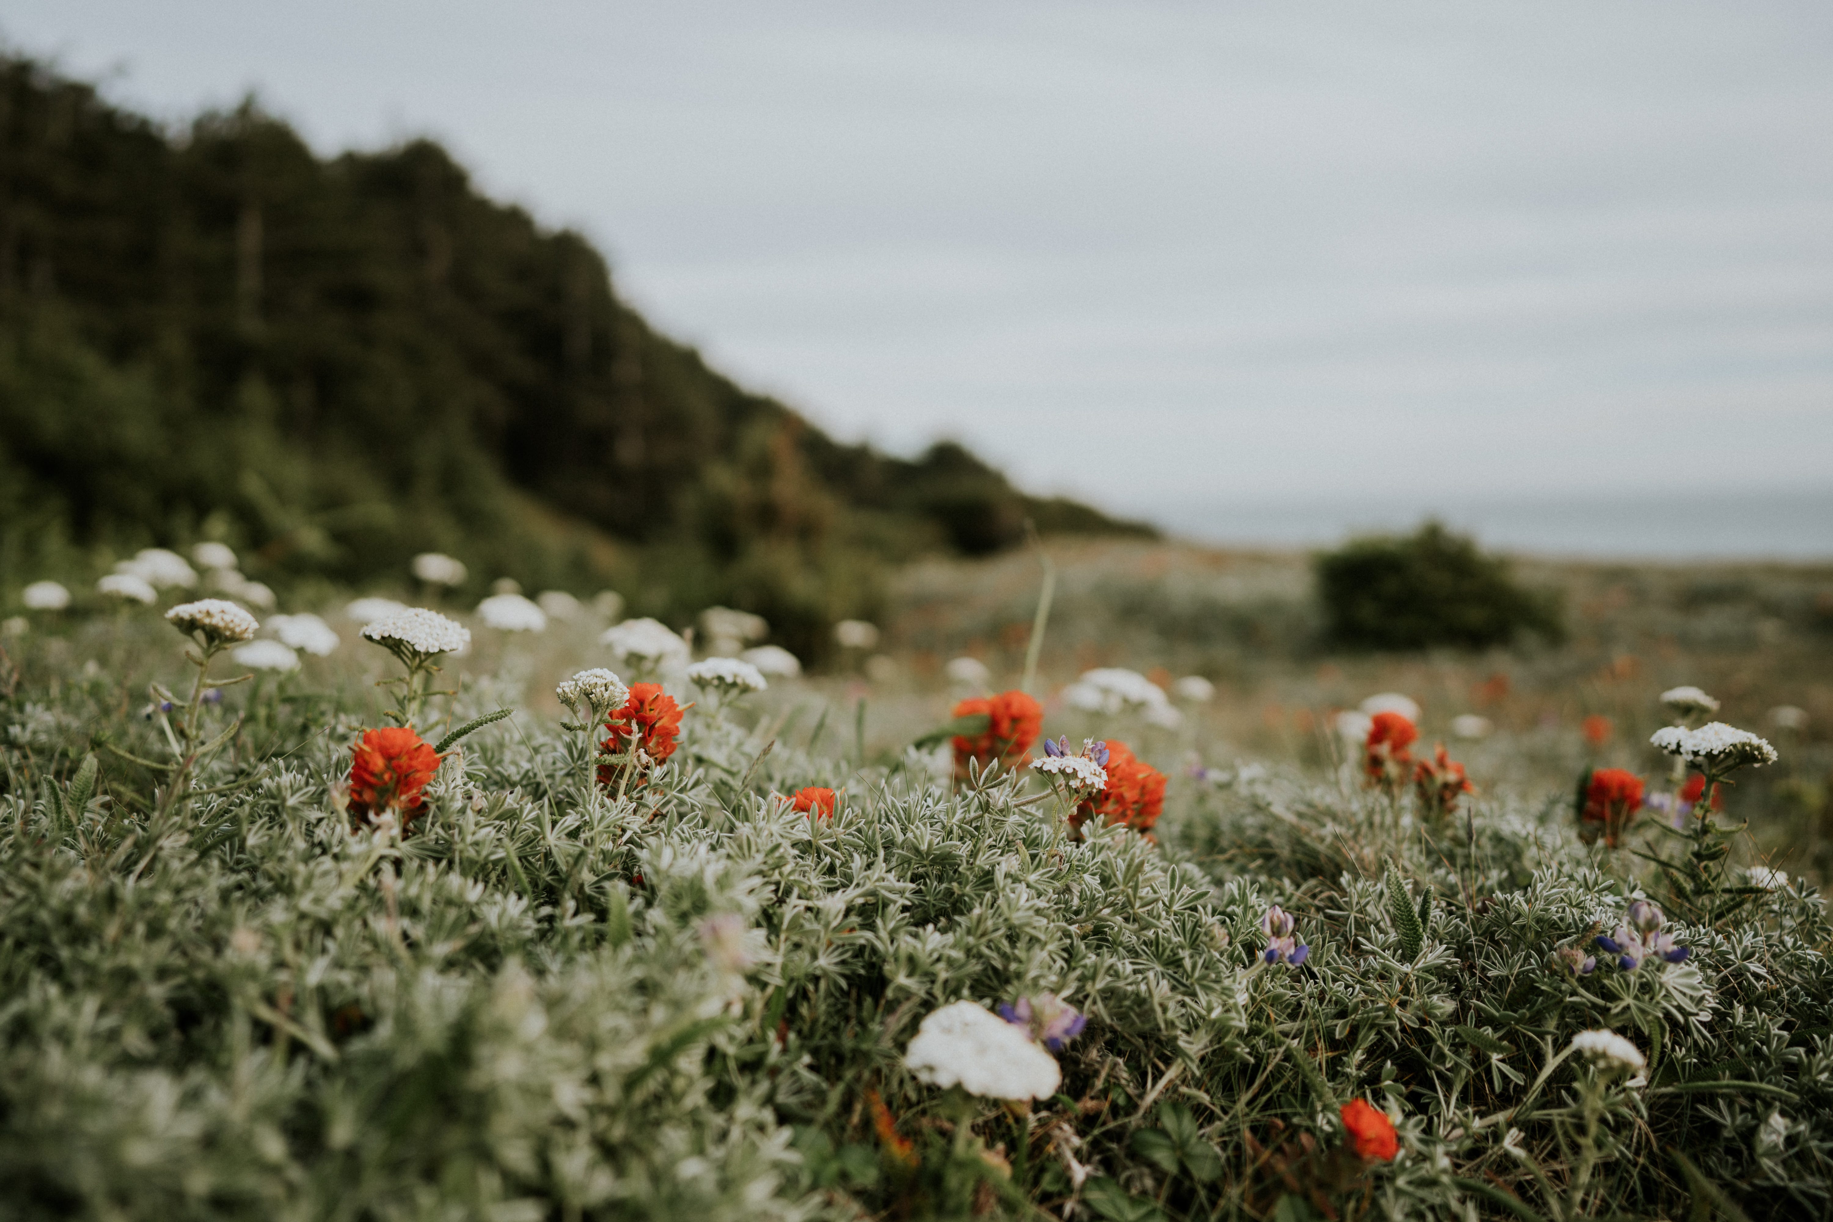
[[834,442],[431,141],[326,161],[249,104],[170,132],[0,59],[0,584],[200,537],[282,584],[438,548],[814,649],[873,612],[874,562],[1026,517],[1151,533],[959,445]]

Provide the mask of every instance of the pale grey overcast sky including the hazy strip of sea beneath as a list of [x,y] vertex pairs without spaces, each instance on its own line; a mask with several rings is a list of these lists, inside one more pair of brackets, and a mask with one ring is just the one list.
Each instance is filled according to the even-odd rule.
[[849,440],[1208,537],[1710,502],[1732,551],[1833,555],[1824,0],[9,0],[0,37],[172,121],[431,134]]

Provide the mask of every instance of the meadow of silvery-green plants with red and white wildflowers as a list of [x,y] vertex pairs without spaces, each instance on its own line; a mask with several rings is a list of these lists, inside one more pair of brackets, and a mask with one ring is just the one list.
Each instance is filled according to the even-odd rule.
[[440,557],[27,590],[0,1217],[1828,1217],[1824,573],[1349,658],[1091,548],[816,676]]

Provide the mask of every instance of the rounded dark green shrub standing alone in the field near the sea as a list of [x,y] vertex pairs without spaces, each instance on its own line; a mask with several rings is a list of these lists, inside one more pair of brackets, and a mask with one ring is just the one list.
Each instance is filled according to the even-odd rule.
[[1507,645],[1525,632],[1564,639],[1551,597],[1523,590],[1509,564],[1426,522],[1406,539],[1353,539],[1316,561],[1334,645],[1428,649]]

